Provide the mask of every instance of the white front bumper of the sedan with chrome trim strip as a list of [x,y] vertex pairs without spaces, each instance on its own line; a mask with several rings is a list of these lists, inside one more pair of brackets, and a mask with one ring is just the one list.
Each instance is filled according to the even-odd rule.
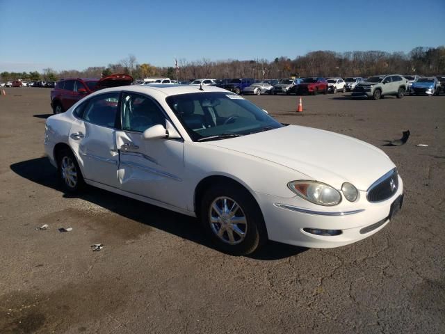
[[[321,206],[317,209],[304,208],[298,196],[277,198],[264,193],[254,195],[263,212],[270,240],[310,248],[333,248],[365,239],[389,223],[391,204],[403,194],[401,177],[398,179],[398,190],[391,198],[371,203],[366,200],[366,191],[360,191],[358,202],[350,203],[343,210]],[[341,230],[341,234],[324,236],[303,229]]]

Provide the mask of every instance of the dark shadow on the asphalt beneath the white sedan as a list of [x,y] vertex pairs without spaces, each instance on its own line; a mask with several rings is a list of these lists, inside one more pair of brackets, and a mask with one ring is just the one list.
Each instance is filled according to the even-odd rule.
[[[188,239],[196,244],[215,249],[207,237],[205,237],[197,219],[191,216],[172,212],[168,209],[156,207],[155,205],[149,205],[145,202],[133,200],[93,186],[88,186],[86,191],[76,193],[75,195],[64,193],[58,180],[56,169],[49,163],[47,157],[21,161],[10,165],[10,168],[14,173],[24,177],[26,180],[60,191],[65,198],[81,198],[87,200],[125,218],[175,234],[177,237]],[[291,257],[302,253],[304,250],[306,250],[306,248],[270,241],[248,257],[255,260],[280,260],[284,257]]]

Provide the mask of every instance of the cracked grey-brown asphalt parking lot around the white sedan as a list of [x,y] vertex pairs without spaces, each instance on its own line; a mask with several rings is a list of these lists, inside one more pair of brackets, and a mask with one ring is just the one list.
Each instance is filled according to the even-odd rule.
[[[0,96],[0,333],[445,333],[445,95],[303,96],[302,113],[295,95],[246,97],[280,122],[381,148],[405,200],[356,244],[232,257],[191,217],[63,193],[43,156],[49,91]],[[385,146],[407,129],[405,145]]]

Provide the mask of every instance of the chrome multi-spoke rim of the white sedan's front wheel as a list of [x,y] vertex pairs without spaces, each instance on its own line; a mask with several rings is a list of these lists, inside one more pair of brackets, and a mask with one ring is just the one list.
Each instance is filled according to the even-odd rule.
[[236,245],[245,239],[248,221],[243,209],[229,197],[218,197],[209,208],[211,230],[227,244]]

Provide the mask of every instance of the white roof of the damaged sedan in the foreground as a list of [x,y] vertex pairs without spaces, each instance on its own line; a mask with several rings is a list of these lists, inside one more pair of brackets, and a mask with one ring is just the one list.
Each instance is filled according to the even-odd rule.
[[113,87],[113,88],[105,88],[102,90],[98,90],[96,94],[98,93],[111,93],[115,91],[125,90],[127,92],[134,92],[134,93],[157,93],[164,95],[165,97],[170,95],[179,95],[179,94],[187,94],[187,93],[209,93],[209,92],[223,92],[223,93],[230,93],[229,91],[218,88],[216,86],[203,86],[202,90],[200,90],[200,86],[191,86],[191,85],[177,85],[177,84],[161,84],[161,85],[150,85],[150,86],[139,86],[139,85],[133,85],[133,86],[120,86],[120,87]]

